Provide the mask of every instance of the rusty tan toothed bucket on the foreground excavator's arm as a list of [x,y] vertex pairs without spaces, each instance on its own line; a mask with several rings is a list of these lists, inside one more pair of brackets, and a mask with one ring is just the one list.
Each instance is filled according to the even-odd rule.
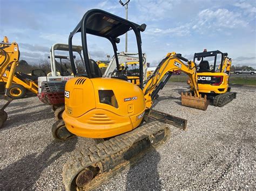
[[181,93],[181,104],[190,108],[206,110],[209,105],[209,101],[207,101],[206,95],[204,97],[201,97],[201,95],[197,97],[192,96],[191,93],[189,95],[187,93]]

